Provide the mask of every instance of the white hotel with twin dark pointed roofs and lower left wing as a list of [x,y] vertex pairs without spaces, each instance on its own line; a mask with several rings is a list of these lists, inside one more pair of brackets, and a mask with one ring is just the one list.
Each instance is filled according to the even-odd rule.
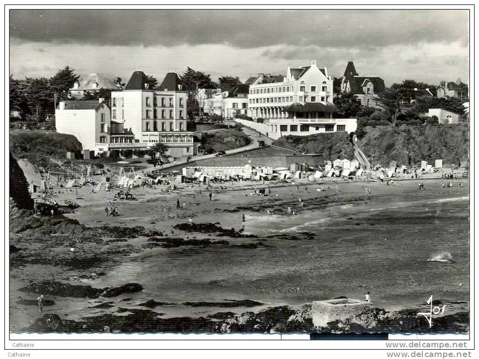
[[111,111],[100,101],[62,101],[56,129],[71,134],[83,150],[147,150],[156,143],[167,155],[197,154],[198,139],[186,131],[186,92],[176,73],[168,73],[158,90],[148,89],[146,75],[135,71],[125,90],[111,92]]

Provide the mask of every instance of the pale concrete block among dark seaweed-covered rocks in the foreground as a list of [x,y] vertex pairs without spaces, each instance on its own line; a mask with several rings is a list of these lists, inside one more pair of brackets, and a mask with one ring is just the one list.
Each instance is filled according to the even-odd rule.
[[344,320],[371,307],[371,303],[358,299],[329,299],[313,301],[312,320],[315,327],[325,327],[326,323]]

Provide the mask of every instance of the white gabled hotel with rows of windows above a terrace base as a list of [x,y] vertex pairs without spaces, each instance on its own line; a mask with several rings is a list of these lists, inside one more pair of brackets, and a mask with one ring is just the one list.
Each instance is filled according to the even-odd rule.
[[307,136],[321,132],[354,132],[356,119],[335,119],[333,79],[316,61],[309,66],[288,67],[286,76],[259,74],[246,81],[249,87],[249,115],[262,123],[237,120],[268,137]]

